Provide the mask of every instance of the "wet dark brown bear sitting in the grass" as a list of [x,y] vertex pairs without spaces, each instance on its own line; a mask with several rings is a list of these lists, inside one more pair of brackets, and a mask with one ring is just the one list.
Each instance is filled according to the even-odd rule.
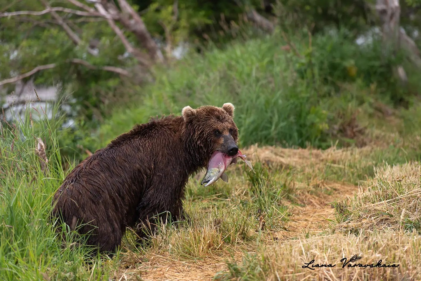
[[[67,175],[54,194],[52,217],[72,230],[80,225],[78,233],[89,233],[86,244],[110,254],[126,227],[151,225],[151,217],[165,212],[182,219],[189,177],[205,168],[217,150],[237,154],[233,117],[231,103],[186,106],[181,116],[135,125]],[[137,232],[144,237],[144,231]]]

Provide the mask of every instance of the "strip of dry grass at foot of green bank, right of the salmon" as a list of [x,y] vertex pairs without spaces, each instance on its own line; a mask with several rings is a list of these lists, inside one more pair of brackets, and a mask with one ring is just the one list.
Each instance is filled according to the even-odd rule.
[[[361,148],[332,146],[326,150],[253,145],[243,153],[252,161],[261,161],[268,166],[282,166],[297,173],[299,171],[305,177],[357,185],[361,181],[373,178],[374,168],[377,166],[419,160],[420,155],[413,145],[413,142],[417,141],[411,139],[411,142],[408,142],[406,145],[400,142],[395,145],[373,143]],[[306,180],[301,179],[301,181]]]

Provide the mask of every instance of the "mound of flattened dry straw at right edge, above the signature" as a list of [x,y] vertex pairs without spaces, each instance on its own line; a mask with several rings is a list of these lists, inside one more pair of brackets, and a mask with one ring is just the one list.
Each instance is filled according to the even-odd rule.
[[376,177],[362,186],[349,206],[341,204],[340,231],[370,229],[416,230],[421,233],[421,166],[407,163],[376,170]]

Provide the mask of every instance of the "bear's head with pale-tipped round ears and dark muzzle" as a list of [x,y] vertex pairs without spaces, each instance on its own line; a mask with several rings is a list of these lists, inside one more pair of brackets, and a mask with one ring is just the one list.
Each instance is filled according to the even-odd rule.
[[190,145],[196,146],[204,158],[210,158],[215,151],[230,156],[237,154],[238,128],[233,120],[232,103],[225,103],[222,107],[206,105],[197,109],[186,106],[181,115]]

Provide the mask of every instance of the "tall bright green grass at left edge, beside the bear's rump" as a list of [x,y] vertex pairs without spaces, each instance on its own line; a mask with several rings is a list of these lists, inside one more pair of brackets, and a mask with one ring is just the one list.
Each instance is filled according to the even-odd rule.
[[[17,125],[3,123],[0,135],[0,279],[108,280],[113,267],[107,260],[89,258],[83,248],[62,247],[49,220],[51,196],[68,172],[57,147],[60,119],[27,117]],[[38,137],[47,147],[45,174],[35,154]]]

